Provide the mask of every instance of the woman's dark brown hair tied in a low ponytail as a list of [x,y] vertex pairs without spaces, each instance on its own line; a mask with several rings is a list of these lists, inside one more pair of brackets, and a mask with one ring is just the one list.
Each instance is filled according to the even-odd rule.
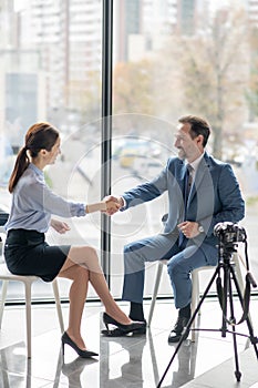
[[25,134],[25,145],[17,155],[14,169],[9,181],[9,192],[12,193],[19,178],[30,164],[30,156],[37,157],[41,150],[51,151],[59,139],[58,130],[49,123],[35,123]]

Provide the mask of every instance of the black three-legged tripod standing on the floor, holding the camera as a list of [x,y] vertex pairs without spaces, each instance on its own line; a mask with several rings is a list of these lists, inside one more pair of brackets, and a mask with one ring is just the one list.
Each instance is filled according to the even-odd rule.
[[[164,375],[162,376],[162,378],[157,385],[157,388],[162,387],[164,378],[165,378],[172,363],[174,361],[183,341],[188,337],[192,324],[194,323],[196,315],[198,314],[200,306],[202,306],[204,299],[206,298],[206,296],[207,296],[207,294],[208,294],[208,292],[209,292],[210,287],[213,286],[216,278],[217,278],[216,284],[217,284],[218,299],[219,299],[219,304],[220,304],[220,307],[223,310],[223,324],[221,324],[220,329],[208,329],[208,330],[209,331],[221,331],[221,337],[226,337],[227,333],[230,333],[233,335],[235,366],[236,366],[235,376],[236,376],[237,381],[240,381],[240,378],[241,378],[241,372],[239,370],[238,351],[237,351],[237,338],[236,338],[237,335],[240,335],[240,336],[244,336],[244,337],[247,337],[250,339],[250,343],[254,345],[256,357],[258,359],[258,349],[257,349],[258,337],[254,336],[254,329],[252,329],[252,325],[251,325],[250,317],[249,317],[250,285],[252,285],[254,287],[257,287],[256,282],[254,280],[251,274],[248,270],[248,273],[246,275],[246,292],[245,292],[245,296],[242,296],[238,279],[237,279],[236,274],[235,274],[235,267],[231,264],[231,255],[234,252],[237,252],[236,244],[230,243],[230,244],[226,244],[226,246],[225,246],[220,241],[218,252],[219,252],[219,261],[218,261],[218,265],[216,267],[216,270],[215,270],[210,282],[208,283],[208,286],[205,289],[204,295],[202,296],[200,302],[198,303],[192,318],[189,319],[187,326],[185,327],[185,330],[180,337],[180,340],[175,348],[175,351],[174,351],[174,354],[173,354],[173,356],[172,356],[172,358],[166,367]],[[249,269],[248,262],[247,262],[247,269]],[[221,273],[223,273],[223,276],[221,276]],[[235,284],[237,295],[238,295],[238,298],[240,300],[240,305],[242,307],[242,317],[238,324],[246,320],[247,327],[249,330],[249,336],[244,335],[244,334],[239,334],[236,331],[237,323],[236,323],[235,312],[234,312],[233,283]],[[229,307],[229,312],[230,312],[229,319],[227,318],[228,307]],[[228,329],[228,325],[231,326],[231,330]],[[196,330],[202,330],[202,329],[196,329]],[[203,330],[207,330],[207,329],[203,329]]]

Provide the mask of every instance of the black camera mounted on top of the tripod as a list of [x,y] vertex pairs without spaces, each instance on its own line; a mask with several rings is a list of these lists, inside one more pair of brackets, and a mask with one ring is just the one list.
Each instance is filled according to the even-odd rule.
[[231,222],[216,224],[214,227],[214,234],[224,245],[244,243],[246,241],[245,228]]

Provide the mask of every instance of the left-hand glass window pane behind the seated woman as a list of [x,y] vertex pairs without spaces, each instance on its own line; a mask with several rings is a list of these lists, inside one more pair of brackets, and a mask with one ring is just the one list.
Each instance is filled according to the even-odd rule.
[[[10,206],[13,161],[37,121],[53,123],[62,136],[62,155],[45,171],[49,185],[73,201],[99,201],[102,1],[0,0],[0,207]],[[69,224],[68,236],[50,231],[49,242],[100,249],[100,219]],[[61,289],[68,297],[66,280]],[[34,294],[49,290],[39,282]],[[9,297],[20,289],[13,286]]]

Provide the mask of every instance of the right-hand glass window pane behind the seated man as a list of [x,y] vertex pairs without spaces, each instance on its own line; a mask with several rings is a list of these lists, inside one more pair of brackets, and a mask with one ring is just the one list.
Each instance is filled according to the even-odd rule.
[[[113,191],[121,194],[154,177],[167,155],[176,155],[180,115],[205,116],[213,126],[208,152],[231,163],[246,200],[241,224],[258,278],[258,2],[114,3]],[[165,210],[163,197],[113,217],[114,294],[121,295],[123,246],[159,232]],[[146,272],[146,296],[155,267]],[[161,293],[171,295],[168,277],[163,279]]]

